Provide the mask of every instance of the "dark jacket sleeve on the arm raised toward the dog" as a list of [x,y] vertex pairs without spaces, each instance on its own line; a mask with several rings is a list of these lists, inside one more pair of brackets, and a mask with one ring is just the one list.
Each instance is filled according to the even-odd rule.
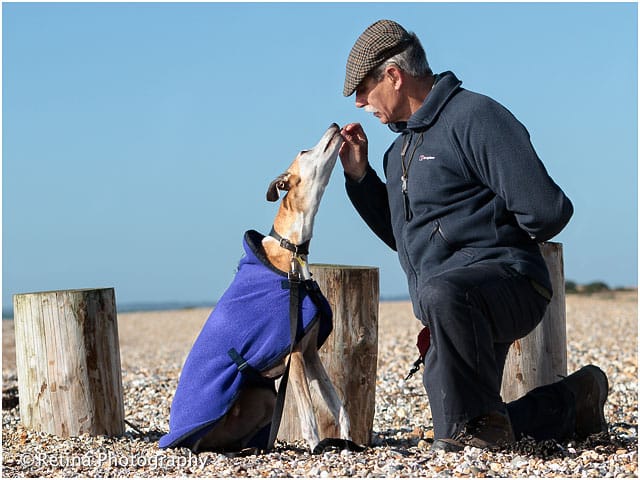
[[396,250],[385,183],[371,165],[367,166],[367,173],[360,182],[345,178],[347,195],[357,212],[384,243]]

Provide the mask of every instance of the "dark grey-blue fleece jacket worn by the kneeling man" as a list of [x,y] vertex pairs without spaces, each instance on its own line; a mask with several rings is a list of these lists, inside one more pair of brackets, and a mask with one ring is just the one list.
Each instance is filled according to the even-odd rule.
[[346,182],[362,218],[397,250],[414,306],[427,279],[479,262],[506,264],[551,291],[538,242],[573,214],[525,127],[461,83],[438,75],[408,122],[389,125],[400,135],[384,156],[386,184],[371,166]]

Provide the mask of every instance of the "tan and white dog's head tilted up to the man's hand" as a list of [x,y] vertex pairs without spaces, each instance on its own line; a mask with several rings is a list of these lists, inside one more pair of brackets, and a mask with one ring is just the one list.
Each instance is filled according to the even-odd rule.
[[314,206],[317,208],[329,183],[342,142],[340,127],[334,123],[315,147],[298,153],[287,171],[271,182],[267,189],[267,200],[277,201],[279,192],[284,191],[288,192],[285,199],[293,209],[308,211]]

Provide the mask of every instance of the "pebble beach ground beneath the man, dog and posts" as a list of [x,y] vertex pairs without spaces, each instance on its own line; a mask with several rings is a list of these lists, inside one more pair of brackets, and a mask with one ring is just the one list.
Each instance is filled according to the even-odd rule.
[[[2,322],[3,477],[630,477],[638,478],[636,291],[567,295],[568,371],[593,363],[609,377],[609,432],[577,441],[523,439],[507,450],[432,452],[421,375],[405,381],[421,325],[409,302],[382,302],[376,412],[364,452],[311,455],[276,443],[263,455],[162,450],[182,363],[209,309],[120,313],[126,433],[61,438],[20,423],[13,321]],[[373,381],[373,380],[372,380]]]

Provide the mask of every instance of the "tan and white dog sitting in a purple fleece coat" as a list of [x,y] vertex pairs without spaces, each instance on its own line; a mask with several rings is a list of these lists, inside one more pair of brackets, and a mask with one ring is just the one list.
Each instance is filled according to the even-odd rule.
[[[277,425],[272,426],[275,379],[282,378],[282,389],[286,371],[309,449],[313,452],[321,443],[310,387],[332,413],[341,437],[350,441],[347,412],[318,355],[332,329],[331,308],[307,264],[314,219],[342,143],[334,123],[315,147],[301,151],[270,183],[268,201],[276,202],[286,192],[271,232],[245,233],[245,256],[234,281],[183,366],[161,448],[270,448],[277,433]],[[292,307],[294,293],[297,303]],[[300,318],[291,325],[298,312]]]

